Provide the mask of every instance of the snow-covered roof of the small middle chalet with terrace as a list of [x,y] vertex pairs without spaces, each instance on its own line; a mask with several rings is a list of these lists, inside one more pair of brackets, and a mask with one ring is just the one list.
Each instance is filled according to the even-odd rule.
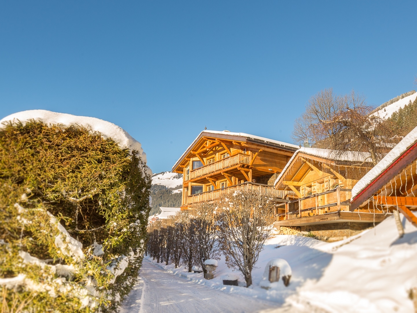
[[289,159],[282,172],[276,178],[274,186],[279,182],[279,180],[284,175],[292,161],[296,158],[297,154],[299,153],[309,154],[311,156],[317,156],[323,159],[330,159],[335,161],[372,162],[371,154],[369,152],[343,151],[343,153],[339,153],[338,151],[331,149],[301,147],[294,152],[293,156],[291,156],[291,159]]

